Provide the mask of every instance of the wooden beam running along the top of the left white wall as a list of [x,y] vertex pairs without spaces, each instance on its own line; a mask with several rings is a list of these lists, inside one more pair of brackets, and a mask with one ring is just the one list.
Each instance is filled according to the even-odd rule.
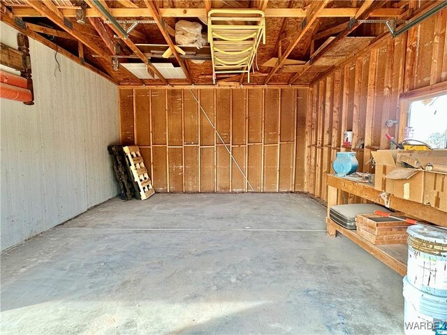
[[13,15],[13,13],[11,13],[10,10],[8,10],[8,8],[6,8],[5,5],[3,5],[3,3],[0,3],[0,13],[1,13],[1,15],[0,15],[1,21],[5,22],[10,27],[13,27],[17,31],[20,31],[22,34],[26,34],[27,36],[33,38],[34,40],[37,40],[38,42],[42,43],[43,45],[50,47],[50,49],[56,50],[59,54],[62,54],[65,57],[67,57],[68,59],[71,59],[75,63],[79,64],[80,66],[88,68],[92,72],[94,72],[98,75],[101,75],[101,77],[104,77],[105,79],[109,80],[110,82],[113,82],[114,84],[119,84],[118,80],[116,78],[108,75],[108,73],[104,73],[102,70],[99,70],[98,68],[95,68],[94,66],[92,66],[88,63],[85,63],[85,61],[83,59],[80,59],[80,57],[76,57],[71,52],[68,52],[64,48],[59,47],[59,45],[57,45],[56,43],[53,43],[52,41],[47,40],[47,38],[41,36],[36,31],[32,31],[28,27],[25,27],[23,24],[18,24],[18,22],[21,21],[20,18],[15,17]]

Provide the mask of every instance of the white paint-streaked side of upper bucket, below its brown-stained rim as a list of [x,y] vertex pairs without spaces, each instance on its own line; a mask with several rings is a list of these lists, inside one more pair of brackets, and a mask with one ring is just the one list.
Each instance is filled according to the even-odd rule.
[[408,247],[409,282],[416,288],[428,287],[447,292],[447,258],[430,255]]

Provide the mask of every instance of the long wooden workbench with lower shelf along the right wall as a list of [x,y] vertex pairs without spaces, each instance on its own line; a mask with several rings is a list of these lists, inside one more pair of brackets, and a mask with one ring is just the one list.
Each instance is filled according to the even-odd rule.
[[[328,185],[328,214],[326,217],[328,235],[330,237],[335,237],[337,232],[340,232],[345,237],[358,244],[358,246],[365,249],[375,258],[388,265],[388,267],[397,271],[402,276],[405,276],[407,257],[406,244],[388,244],[376,246],[366,239],[360,237],[357,234],[356,230],[349,230],[342,227],[341,225],[338,225],[337,223],[332,221],[329,216],[330,207],[339,203],[339,191],[344,191],[351,195],[356,195],[365,200],[369,200],[375,202],[376,204],[381,204],[382,206],[384,206],[384,201],[380,197],[381,191],[377,191],[376,189],[374,189],[374,186],[372,184],[356,182],[345,177],[336,177],[333,174],[328,174],[326,183]],[[418,202],[396,198],[393,195],[390,195],[390,198],[388,198],[388,200],[389,207],[391,209],[402,211],[413,218],[418,218],[420,220],[434,223],[435,225],[447,227],[447,213],[444,211],[439,211],[439,209],[435,209],[434,207],[420,204]]]

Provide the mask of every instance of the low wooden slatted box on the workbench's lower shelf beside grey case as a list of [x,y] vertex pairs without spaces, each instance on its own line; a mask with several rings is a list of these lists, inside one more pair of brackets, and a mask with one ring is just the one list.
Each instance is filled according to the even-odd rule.
[[[395,216],[405,216],[394,213]],[[406,244],[406,228],[409,224],[377,214],[356,216],[357,234],[372,244]]]

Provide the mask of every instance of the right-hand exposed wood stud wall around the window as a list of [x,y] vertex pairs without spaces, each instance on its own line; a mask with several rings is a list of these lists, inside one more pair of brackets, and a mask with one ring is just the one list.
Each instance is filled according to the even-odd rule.
[[[400,138],[399,128],[404,128],[385,125],[388,119],[401,118],[400,94],[447,80],[446,26],[447,10],[442,10],[311,85],[305,191],[327,200],[326,173],[333,173],[337,151],[356,151],[358,171],[374,172],[368,163],[371,151],[388,149],[385,134]],[[351,147],[342,145],[344,131],[353,131]],[[365,142],[364,148],[356,149],[359,141]]]

